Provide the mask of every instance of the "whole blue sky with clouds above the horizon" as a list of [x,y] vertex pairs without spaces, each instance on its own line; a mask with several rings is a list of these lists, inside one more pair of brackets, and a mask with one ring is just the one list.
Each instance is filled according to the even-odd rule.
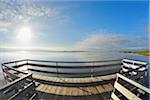
[[[147,49],[148,9],[148,1],[0,0],[0,47]],[[26,42],[16,38],[23,27]]]

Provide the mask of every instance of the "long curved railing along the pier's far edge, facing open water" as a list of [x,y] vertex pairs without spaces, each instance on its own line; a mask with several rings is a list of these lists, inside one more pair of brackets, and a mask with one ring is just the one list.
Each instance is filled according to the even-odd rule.
[[[21,63],[21,64],[19,64]],[[101,64],[105,63],[105,64]],[[10,65],[13,64],[13,65]],[[78,65],[77,65],[78,64]],[[10,67],[8,67],[10,65]],[[55,71],[48,71],[48,70],[39,70],[39,69],[33,69],[28,68],[28,70],[36,71],[36,72],[43,72],[43,73],[49,73],[49,74],[56,74],[59,75],[88,75],[88,76],[94,76],[99,74],[99,71],[95,71],[94,69],[99,68],[106,68],[111,66],[119,66],[121,65],[121,60],[103,60],[103,61],[45,61],[45,60],[32,60],[32,59],[24,59],[24,60],[18,60],[18,61],[11,61],[3,63],[2,66],[6,68],[11,68],[12,70],[16,70],[16,68],[23,66],[23,65],[31,65],[41,68],[53,68]],[[80,72],[60,72],[61,69],[80,69],[82,71]],[[85,70],[89,69],[88,72]],[[22,71],[16,70],[16,72],[24,73]],[[24,73],[26,74],[26,73]]]

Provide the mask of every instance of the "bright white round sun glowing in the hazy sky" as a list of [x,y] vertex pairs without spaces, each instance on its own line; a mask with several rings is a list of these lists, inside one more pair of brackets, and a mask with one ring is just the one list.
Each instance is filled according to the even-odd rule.
[[32,35],[33,33],[29,27],[21,27],[20,30],[18,31],[17,39],[20,42],[27,43],[31,41]]

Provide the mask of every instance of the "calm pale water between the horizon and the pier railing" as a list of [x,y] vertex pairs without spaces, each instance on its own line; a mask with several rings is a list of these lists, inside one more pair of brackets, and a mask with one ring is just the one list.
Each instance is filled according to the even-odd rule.
[[[137,54],[121,54],[118,52],[38,52],[38,51],[0,51],[0,63],[21,60],[57,60],[57,61],[93,61],[112,60],[130,58],[135,60],[149,61],[148,56]],[[2,70],[0,70],[0,81],[3,80]]]

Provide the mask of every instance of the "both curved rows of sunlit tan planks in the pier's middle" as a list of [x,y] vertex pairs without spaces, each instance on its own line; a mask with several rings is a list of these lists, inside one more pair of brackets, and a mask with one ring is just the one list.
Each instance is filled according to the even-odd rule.
[[110,92],[113,90],[111,83],[94,85],[94,86],[78,86],[80,84],[92,84],[93,82],[102,82],[105,80],[113,80],[116,78],[115,74],[107,76],[99,76],[93,78],[53,78],[47,76],[33,75],[33,79],[40,79],[42,81],[59,82],[59,83],[75,83],[76,86],[59,86],[59,85],[48,85],[41,84],[36,88],[37,91],[46,94],[64,95],[64,96],[87,96]]

